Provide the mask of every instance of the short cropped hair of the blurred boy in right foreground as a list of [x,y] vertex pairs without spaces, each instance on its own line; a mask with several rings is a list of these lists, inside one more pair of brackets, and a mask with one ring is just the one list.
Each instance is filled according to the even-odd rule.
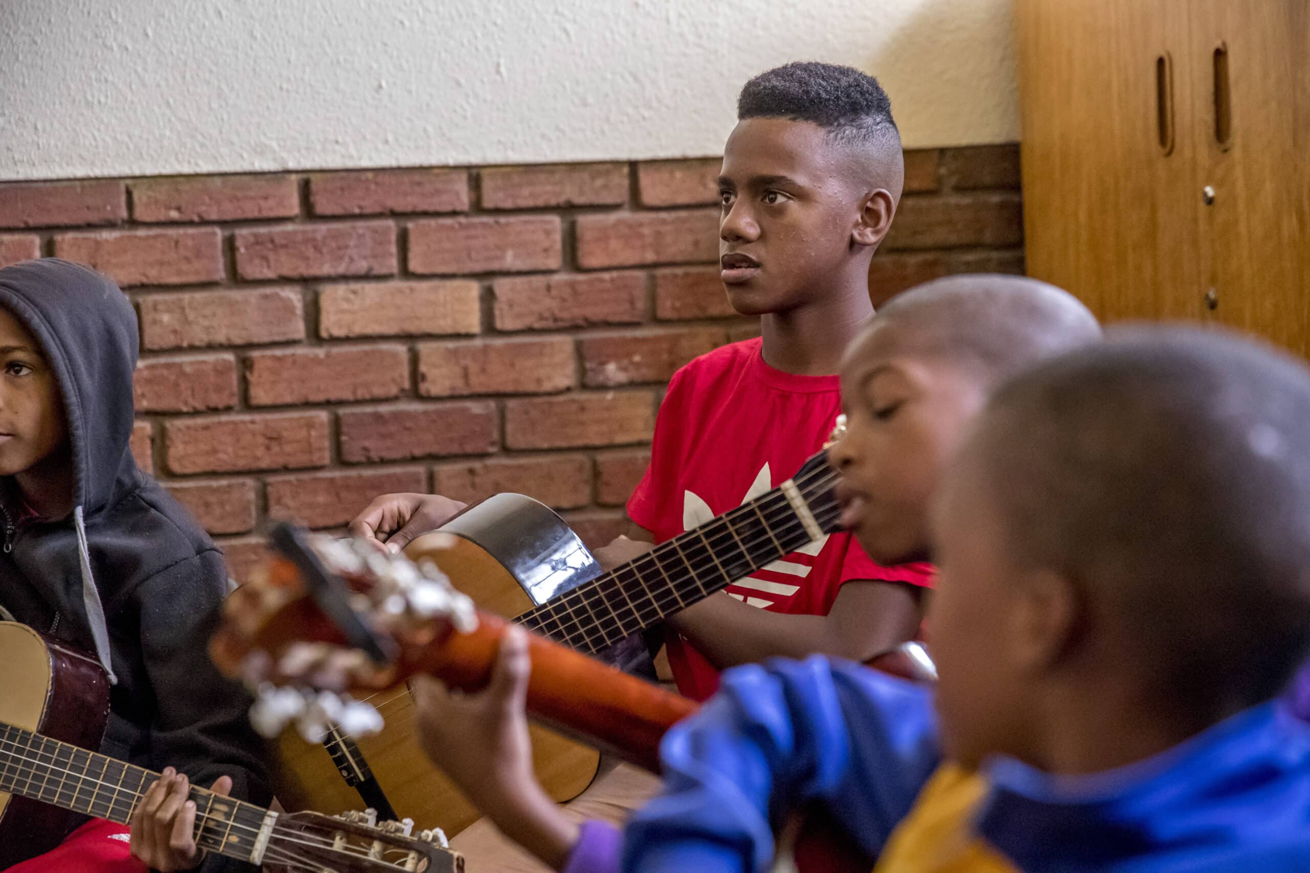
[[960,455],[1018,564],[1127,622],[1166,703],[1254,705],[1310,650],[1310,370],[1136,329],[1006,382]]

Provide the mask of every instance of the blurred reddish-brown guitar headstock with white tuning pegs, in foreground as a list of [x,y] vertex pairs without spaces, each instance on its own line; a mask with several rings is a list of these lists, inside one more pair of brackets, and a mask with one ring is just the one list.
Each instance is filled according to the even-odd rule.
[[[309,741],[329,725],[372,733],[381,717],[351,694],[407,678],[406,653],[477,627],[477,613],[431,561],[287,525],[276,555],[224,603],[214,662],[255,694],[266,736],[295,721]],[[434,541],[428,541],[436,546]]]

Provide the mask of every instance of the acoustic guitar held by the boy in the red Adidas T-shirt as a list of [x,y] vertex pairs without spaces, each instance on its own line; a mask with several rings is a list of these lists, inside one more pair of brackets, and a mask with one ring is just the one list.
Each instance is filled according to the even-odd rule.
[[[840,431],[838,423],[833,440]],[[836,482],[824,449],[777,488],[608,572],[558,514],[515,493],[469,507],[405,554],[435,564],[483,611],[604,657],[634,631],[837,530]],[[283,736],[278,797],[288,808],[333,811],[358,805],[358,791],[371,806],[389,802],[451,834],[470,825],[477,810],[418,747],[407,688],[386,688],[371,703],[386,728],[356,746],[328,725],[330,759],[296,733]],[[548,793],[557,801],[582,793],[596,774],[596,750],[542,728],[532,736]]]

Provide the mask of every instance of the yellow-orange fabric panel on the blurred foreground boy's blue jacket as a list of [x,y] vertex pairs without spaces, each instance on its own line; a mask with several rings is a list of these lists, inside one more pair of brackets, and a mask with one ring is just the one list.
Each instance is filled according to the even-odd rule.
[[1019,873],[973,831],[986,792],[986,780],[976,772],[938,767],[892,831],[874,873]]

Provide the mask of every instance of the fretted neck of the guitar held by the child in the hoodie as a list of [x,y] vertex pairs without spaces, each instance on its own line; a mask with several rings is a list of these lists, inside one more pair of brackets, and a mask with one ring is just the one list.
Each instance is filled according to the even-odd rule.
[[[0,791],[128,825],[160,775],[98,753],[0,724]],[[258,864],[276,813],[191,787],[195,843]]]

